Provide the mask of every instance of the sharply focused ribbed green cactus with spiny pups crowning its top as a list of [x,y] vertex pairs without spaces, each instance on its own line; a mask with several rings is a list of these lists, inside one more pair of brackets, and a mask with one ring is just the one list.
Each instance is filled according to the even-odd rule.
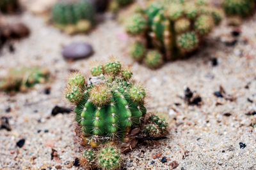
[[97,139],[122,140],[147,111],[145,89],[131,81],[132,72],[115,60],[90,71],[89,80],[81,73],[71,74],[65,97],[76,104],[76,120],[90,145],[97,146]]

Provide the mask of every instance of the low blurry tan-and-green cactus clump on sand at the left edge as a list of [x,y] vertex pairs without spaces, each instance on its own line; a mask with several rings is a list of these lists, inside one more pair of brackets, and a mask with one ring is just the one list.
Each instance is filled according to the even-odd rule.
[[22,67],[12,69],[8,76],[1,79],[0,90],[6,92],[25,92],[36,83],[44,83],[49,78],[49,71],[38,67]]

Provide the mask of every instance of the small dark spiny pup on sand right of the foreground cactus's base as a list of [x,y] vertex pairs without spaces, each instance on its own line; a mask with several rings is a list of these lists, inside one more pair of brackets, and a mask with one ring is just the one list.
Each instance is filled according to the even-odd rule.
[[148,124],[143,127],[145,137],[161,137],[167,132],[167,123],[164,119],[151,115]]

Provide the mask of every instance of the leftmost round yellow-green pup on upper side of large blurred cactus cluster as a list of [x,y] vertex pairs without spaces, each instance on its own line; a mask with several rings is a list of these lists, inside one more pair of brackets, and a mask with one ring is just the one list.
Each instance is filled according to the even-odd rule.
[[125,30],[132,35],[141,34],[147,29],[146,19],[140,13],[132,15],[125,21]]

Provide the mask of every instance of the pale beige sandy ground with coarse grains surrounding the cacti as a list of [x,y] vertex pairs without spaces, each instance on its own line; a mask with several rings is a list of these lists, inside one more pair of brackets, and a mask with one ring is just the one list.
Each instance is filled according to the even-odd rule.
[[[12,131],[0,130],[0,169],[79,169],[68,166],[79,156],[73,141],[72,117],[53,117],[51,110],[55,105],[68,106],[62,90],[70,69],[86,73],[91,61],[109,55],[130,64],[134,79],[145,84],[148,111],[165,111],[171,122],[168,139],[158,146],[139,146],[125,155],[127,169],[172,169],[169,164],[174,160],[179,163],[177,169],[182,170],[256,169],[256,131],[251,126],[256,123],[256,115],[245,115],[256,110],[256,16],[244,21],[237,38],[230,33],[232,27],[223,22],[196,55],[168,62],[156,71],[130,59],[129,38],[114,20],[102,22],[88,35],[67,36],[31,13],[24,12],[18,18],[29,25],[31,36],[15,42],[14,53],[3,48],[0,75],[10,67],[38,65],[51,70],[52,81],[36,85],[26,94],[0,94],[0,114],[9,117],[12,126]],[[225,41],[234,39],[238,40],[235,46],[225,45]],[[76,62],[63,60],[62,46],[74,41],[93,45],[94,55]],[[218,58],[218,66],[212,66],[213,57]],[[213,93],[220,85],[237,100],[215,97]],[[50,95],[44,94],[47,86],[51,86]],[[184,86],[200,94],[202,106],[184,103]],[[11,111],[6,113],[9,107]],[[18,148],[16,143],[21,138],[26,142]],[[58,152],[60,161],[51,160],[49,146]],[[152,159],[152,154],[159,152],[161,157]],[[163,157],[168,160],[166,164],[161,162]]]

